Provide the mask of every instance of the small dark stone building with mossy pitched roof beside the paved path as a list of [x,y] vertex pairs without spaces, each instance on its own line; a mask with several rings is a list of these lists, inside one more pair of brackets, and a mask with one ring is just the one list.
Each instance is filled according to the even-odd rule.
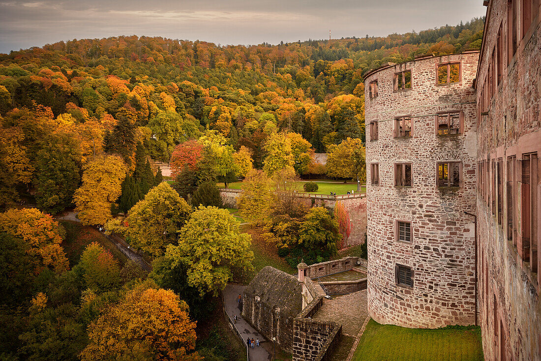
[[293,352],[293,319],[302,310],[302,288],[291,274],[267,266],[244,291],[242,316],[282,350]]

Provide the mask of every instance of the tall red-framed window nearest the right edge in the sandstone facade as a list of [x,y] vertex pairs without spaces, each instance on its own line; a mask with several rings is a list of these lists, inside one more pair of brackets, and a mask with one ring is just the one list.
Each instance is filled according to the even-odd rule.
[[537,272],[537,153],[523,154],[521,168],[522,176],[520,182],[520,244],[519,254],[525,262],[530,262],[532,272]]

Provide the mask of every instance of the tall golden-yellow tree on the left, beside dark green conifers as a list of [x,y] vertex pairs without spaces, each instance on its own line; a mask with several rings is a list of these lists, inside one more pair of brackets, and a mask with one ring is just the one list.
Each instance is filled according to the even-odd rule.
[[78,217],[85,225],[103,225],[111,215],[111,204],[121,194],[127,169],[117,155],[97,157],[84,167],[83,185],[75,191]]

